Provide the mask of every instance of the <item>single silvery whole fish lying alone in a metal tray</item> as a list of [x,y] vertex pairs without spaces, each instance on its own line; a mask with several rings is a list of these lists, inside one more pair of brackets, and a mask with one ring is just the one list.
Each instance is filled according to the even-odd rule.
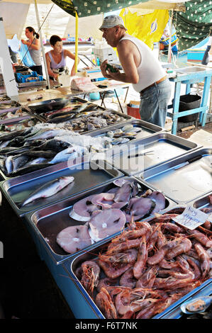
[[28,203],[31,203],[32,201],[35,201],[37,199],[53,196],[73,181],[74,177],[72,176],[62,176],[52,181],[49,181],[48,183],[44,184],[33,193],[31,193],[30,196],[26,199],[26,201],[23,202],[21,207],[23,207],[24,205],[28,205]]

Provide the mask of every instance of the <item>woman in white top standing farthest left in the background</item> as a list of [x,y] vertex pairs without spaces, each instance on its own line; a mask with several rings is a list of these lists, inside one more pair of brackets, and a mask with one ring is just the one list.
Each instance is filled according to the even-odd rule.
[[35,33],[35,29],[32,27],[27,27],[25,30],[25,35],[27,40],[21,40],[21,43],[28,46],[28,50],[30,52],[30,56],[35,62],[35,66],[31,66],[30,69],[33,72],[37,72],[40,75],[43,75],[42,70],[42,62],[41,62],[41,55],[40,55],[40,39],[39,34]]

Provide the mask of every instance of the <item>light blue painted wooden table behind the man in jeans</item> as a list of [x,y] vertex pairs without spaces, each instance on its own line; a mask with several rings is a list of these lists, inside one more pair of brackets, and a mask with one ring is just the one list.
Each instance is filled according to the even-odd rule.
[[[206,111],[208,109],[208,94],[211,84],[212,69],[205,69],[201,67],[184,67],[182,69],[176,69],[176,77],[170,77],[169,81],[175,83],[174,86],[174,101],[173,106],[168,106],[168,108],[173,108],[173,113],[167,112],[167,115],[172,118],[172,134],[177,133],[177,121],[178,118],[184,115],[191,115],[193,113],[199,113],[199,122],[202,126],[206,123]],[[188,111],[183,111],[179,113],[179,98],[181,91],[181,84],[186,84],[186,94],[191,91],[191,84],[196,84],[204,81],[203,95],[201,98],[201,105],[199,108],[193,108]]]

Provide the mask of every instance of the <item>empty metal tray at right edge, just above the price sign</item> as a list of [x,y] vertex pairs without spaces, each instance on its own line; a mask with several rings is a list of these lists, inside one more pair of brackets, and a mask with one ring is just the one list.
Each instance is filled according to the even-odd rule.
[[211,192],[211,171],[204,166],[201,159],[187,164],[182,169],[174,168],[199,154],[202,157],[211,157],[212,148],[197,149],[155,168],[139,172],[135,177],[143,179],[147,185],[162,191],[176,203],[189,203]]

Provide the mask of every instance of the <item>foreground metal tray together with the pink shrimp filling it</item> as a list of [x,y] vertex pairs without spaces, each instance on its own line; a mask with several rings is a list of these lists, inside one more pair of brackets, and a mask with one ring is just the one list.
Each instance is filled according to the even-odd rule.
[[[183,207],[176,206],[156,218],[134,222],[136,229],[135,225],[129,225],[128,230],[111,241],[79,254],[74,260],[64,261],[62,266],[66,282],[65,288],[62,283],[60,288],[74,316],[156,319],[167,314],[169,318],[173,307],[179,306],[205,286],[211,287],[207,254],[211,241],[201,230],[196,231],[198,235],[193,235],[173,223],[172,218],[183,210]],[[150,229],[151,236],[148,234]],[[192,243],[192,238],[196,242]],[[140,245],[137,249],[133,245],[136,242]],[[157,250],[151,254],[155,244]],[[206,260],[201,259],[203,254]],[[146,265],[145,271],[143,267]],[[179,269],[174,270],[174,267]],[[94,272],[93,278],[89,269]],[[74,305],[72,293],[75,296]],[[102,299],[107,302],[101,302]]]

